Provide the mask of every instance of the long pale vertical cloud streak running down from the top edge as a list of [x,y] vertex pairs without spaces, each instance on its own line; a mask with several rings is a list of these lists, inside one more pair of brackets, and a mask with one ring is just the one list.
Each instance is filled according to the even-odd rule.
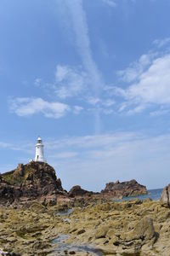
[[[82,0],[65,0],[62,3],[65,3],[65,8],[69,13],[69,17],[71,17],[71,20],[68,20],[68,22],[75,35],[77,50],[82,59],[82,67],[88,76],[88,95],[91,94],[94,97],[99,97],[103,80],[92,55],[88,34],[88,21],[83,9]],[[99,108],[95,110],[95,130],[100,130]]]

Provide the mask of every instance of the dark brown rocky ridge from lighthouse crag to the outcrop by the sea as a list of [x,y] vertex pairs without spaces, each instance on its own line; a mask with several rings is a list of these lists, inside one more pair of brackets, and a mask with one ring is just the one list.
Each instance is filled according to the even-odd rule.
[[74,199],[82,201],[89,196],[93,198],[122,198],[129,195],[144,195],[147,190],[135,180],[120,183],[106,183],[101,193],[94,193],[74,186],[66,192],[61,181],[56,177],[54,168],[47,163],[31,161],[0,175],[0,204],[25,204],[27,201],[42,201],[44,204],[55,204]]

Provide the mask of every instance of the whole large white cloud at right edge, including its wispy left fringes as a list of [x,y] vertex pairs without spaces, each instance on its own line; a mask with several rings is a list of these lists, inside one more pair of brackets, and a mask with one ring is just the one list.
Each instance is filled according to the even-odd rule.
[[116,95],[125,99],[119,111],[140,113],[151,106],[170,107],[169,53],[143,55],[136,64],[119,72],[119,75],[127,83],[126,89],[114,89]]

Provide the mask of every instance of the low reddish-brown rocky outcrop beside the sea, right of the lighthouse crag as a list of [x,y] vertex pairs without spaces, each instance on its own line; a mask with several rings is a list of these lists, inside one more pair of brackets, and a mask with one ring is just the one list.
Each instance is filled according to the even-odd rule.
[[122,198],[124,196],[131,195],[145,195],[147,193],[146,187],[137,183],[135,179],[122,183],[119,181],[116,181],[116,183],[106,183],[105,189],[101,190],[102,195],[113,198]]

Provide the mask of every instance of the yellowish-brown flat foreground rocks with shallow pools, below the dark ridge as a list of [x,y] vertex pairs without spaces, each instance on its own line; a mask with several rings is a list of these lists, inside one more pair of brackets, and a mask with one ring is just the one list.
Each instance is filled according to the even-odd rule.
[[10,255],[169,256],[169,241],[170,209],[158,201],[0,208],[0,248]]

